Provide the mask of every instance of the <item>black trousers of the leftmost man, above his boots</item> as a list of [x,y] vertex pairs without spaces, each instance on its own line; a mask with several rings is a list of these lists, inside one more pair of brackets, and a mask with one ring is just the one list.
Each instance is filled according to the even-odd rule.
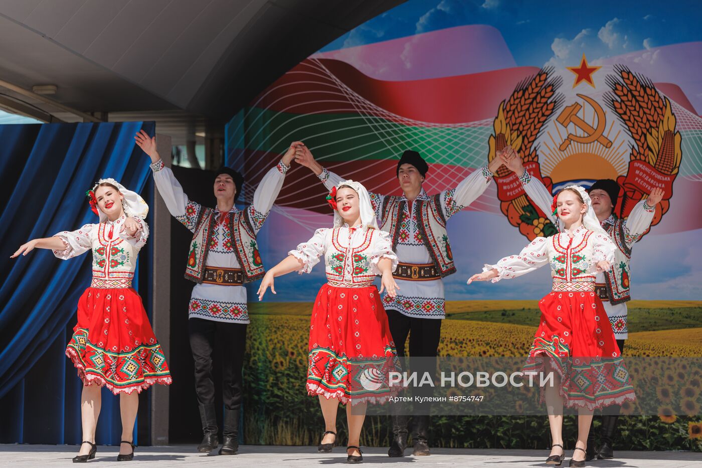
[[[190,350],[195,364],[195,391],[201,405],[215,403],[212,353],[221,350],[222,400],[227,410],[241,406],[241,367],[246,351],[245,323],[225,323],[202,318],[187,321]],[[216,346],[218,344],[218,346]]]

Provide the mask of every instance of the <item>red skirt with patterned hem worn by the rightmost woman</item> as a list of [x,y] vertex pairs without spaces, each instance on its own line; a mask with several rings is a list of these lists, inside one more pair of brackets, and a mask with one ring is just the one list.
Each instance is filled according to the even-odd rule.
[[[559,374],[559,393],[568,408],[595,410],[636,399],[607,312],[595,292],[553,291],[538,306],[541,324],[524,372],[541,372],[548,360]],[[542,401],[543,397],[542,391]]]

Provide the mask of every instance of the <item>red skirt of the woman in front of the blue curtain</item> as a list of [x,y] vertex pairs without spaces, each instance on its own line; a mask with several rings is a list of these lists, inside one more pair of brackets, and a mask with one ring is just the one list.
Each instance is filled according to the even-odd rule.
[[131,287],[88,287],[78,301],[66,356],[84,385],[104,385],[115,395],[172,382],[141,297]]

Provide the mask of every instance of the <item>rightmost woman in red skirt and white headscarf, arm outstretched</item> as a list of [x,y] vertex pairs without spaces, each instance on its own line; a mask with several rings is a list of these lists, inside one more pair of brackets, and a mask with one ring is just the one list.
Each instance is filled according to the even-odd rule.
[[[636,397],[607,312],[595,294],[596,275],[609,270],[614,260],[614,242],[597,221],[592,201],[581,186],[561,190],[553,197],[551,209],[563,222],[561,233],[536,238],[519,255],[486,264],[483,273],[472,275],[468,284],[516,278],[550,264],[552,292],[539,302],[541,325],[524,370],[553,372],[555,377],[553,385],[547,384],[541,394],[553,444],[546,462],[563,461],[565,404],[578,408],[578,439],[570,466],[583,467],[592,411]],[[583,382],[590,383],[583,386]]]

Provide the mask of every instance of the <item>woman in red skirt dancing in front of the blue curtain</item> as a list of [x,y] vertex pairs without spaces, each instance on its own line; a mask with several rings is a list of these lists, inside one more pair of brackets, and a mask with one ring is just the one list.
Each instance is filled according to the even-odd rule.
[[171,372],[141,297],[131,287],[137,255],[149,236],[144,221],[149,207],[113,178],[100,179],[87,195],[100,223],[30,240],[13,257],[34,248],[52,249],[63,260],[92,251],[93,280],[78,301],[78,323],[66,346],[66,356],[84,383],[83,444],[73,461],[95,458],[102,386],[119,394],[122,441],[117,461],[132,460],[138,394],[154,383],[171,384]]

